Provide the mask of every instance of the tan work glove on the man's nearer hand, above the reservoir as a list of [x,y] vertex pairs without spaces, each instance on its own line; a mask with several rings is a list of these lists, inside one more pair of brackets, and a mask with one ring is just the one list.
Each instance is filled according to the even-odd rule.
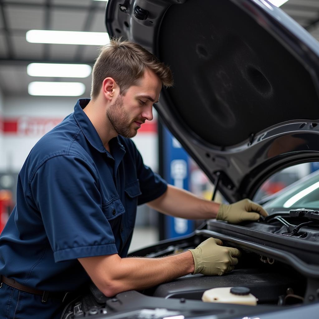
[[193,274],[207,276],[221,276],[232,271],[237,265],[241,252],[236,248],[221,246],[219,239],[208,238],[195,249],[189,249],[194,258],[195,270]]

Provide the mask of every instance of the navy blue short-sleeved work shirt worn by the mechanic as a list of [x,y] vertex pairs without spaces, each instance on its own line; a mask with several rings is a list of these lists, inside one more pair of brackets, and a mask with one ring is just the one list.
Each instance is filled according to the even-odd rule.
[[109,153],[83,108],[43,136],[18,178],[17,204],[0,235],[0,274],[22,285],[72,291],[89,277],[77,258],[127,255],[137,205],[166,182],[134,143],[110,140]]

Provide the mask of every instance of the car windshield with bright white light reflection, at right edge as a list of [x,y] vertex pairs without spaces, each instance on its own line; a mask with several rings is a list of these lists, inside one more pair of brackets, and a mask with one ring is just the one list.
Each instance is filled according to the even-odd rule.
[[265,203],[263,207],[269,213],[296,208],[319,209],[319,171],[286,187],[278,193],[275,199]]

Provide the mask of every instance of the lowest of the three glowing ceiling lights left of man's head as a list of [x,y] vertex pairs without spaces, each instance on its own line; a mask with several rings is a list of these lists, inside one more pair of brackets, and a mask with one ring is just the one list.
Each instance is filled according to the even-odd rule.
[[85,92],[80,82],[31,82],[28,85],[30,95],[79,96]]

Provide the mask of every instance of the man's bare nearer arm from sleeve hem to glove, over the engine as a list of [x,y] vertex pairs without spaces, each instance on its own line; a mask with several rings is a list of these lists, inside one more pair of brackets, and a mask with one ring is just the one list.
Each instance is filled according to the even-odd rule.
[[163,258],[121,258],[118,255],[79,258],[95,285],[108,297],[141,290],[194,272],[191,252]]

